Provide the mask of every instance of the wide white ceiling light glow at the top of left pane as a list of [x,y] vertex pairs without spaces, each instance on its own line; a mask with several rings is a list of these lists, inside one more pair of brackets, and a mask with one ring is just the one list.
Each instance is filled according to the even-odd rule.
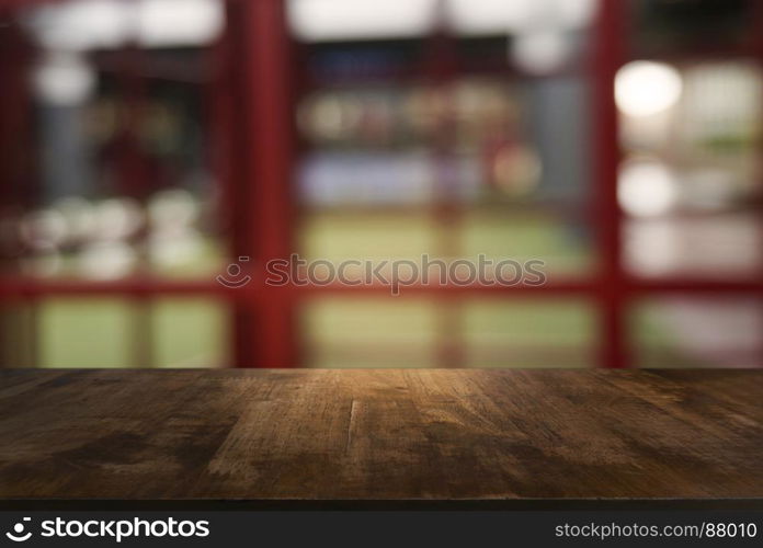
[[50,49],[206,44],[223,27],[220,0],[72,0],[34,10],[30,24]]

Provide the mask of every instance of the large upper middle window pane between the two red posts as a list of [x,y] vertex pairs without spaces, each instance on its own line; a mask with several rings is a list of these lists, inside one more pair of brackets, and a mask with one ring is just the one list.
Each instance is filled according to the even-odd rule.
[[[295,116],[299,252],[332,261],[485,254],[542,260],[551,276],[590,273],[581,53],[593,3],[557,20],[532,2],[434,2],[422,28],[387,37],[371,30],[372,3],[335,15],[361,33],[371,25],[361,39],[314,28],[321,23],[306,13],[318,3],[289,2],[306,73]],[[559,25],[531,22],[550,19]],[[514,23],[496,24],[504,20]]]

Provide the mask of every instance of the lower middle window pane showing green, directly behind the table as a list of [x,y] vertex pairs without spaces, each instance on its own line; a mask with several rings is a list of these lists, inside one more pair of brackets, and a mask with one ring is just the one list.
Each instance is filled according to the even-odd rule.
[[314,367],[590,367],[582,301],[321,299],[305,309]]

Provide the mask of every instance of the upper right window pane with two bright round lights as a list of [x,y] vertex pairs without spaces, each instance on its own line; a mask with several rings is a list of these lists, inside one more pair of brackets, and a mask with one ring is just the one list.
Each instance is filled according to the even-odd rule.
[[640,276],[758,276],[760,68],[635,61],[617,78],[625,267]]

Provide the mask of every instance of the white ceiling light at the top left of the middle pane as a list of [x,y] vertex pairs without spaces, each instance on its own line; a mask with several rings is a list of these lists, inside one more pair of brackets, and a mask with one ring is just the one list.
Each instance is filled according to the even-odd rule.
[[419,36],[433,22],[435,0],[291,0],[288,20],[306,41]]

